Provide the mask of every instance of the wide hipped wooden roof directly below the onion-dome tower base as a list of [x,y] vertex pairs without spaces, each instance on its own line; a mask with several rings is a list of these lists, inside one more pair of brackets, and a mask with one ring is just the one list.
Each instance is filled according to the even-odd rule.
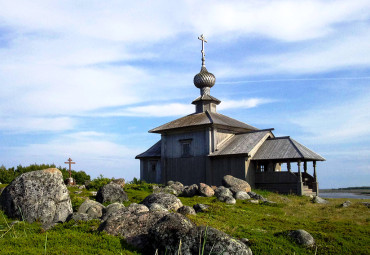
[[231,128],[244,129],[245,131],[258,130],[257,128],[250,126],[246,123],[238,121],[236,119],[227,117],[225,115],[216,112],[201,112],[193,113],[185,117],[176,119],[168,122],[162,126],[149,130],[150,133],[162,133],[168,130],[184,128],[184,127],[195,127],[204,125],[222,125]]

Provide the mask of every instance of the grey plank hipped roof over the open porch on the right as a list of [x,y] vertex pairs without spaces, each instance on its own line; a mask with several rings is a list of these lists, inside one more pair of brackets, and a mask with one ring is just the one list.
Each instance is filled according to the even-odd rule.
[[267,139],[254,154],[253,160],[317,160],[325,161],[319,154],[291,139],[289,136]]

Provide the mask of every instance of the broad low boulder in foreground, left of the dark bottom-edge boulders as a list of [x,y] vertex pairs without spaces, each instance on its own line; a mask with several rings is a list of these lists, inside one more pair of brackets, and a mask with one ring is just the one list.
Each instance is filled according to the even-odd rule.
[[144,254],[154,254],[148,231],[168,212],[149,212],[149,209],[146,208],[147,211],[145,211],[144,207],[144,205],[134,204],[119,209],[100,224],[99,231],[121,236],[127,243],[137,247]]

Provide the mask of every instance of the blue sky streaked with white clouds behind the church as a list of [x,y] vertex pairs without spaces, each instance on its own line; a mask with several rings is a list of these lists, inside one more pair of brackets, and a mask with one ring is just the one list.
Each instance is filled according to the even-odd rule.
[[370,186],[368,0],[0,0],[0,165],[140,177],[148,130],[195,110],[200,34],[218,112],[322,155],[321,188]]

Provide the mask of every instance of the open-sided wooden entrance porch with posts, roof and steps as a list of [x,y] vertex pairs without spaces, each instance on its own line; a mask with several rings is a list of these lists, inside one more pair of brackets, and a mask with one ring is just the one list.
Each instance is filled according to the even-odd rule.
[[[255,186],[283,194],[318,195],[316,162],[324,160],[290,137],[267,139],[252,158]],[[296,172],[292,171],[293,164],[297,165]]]

